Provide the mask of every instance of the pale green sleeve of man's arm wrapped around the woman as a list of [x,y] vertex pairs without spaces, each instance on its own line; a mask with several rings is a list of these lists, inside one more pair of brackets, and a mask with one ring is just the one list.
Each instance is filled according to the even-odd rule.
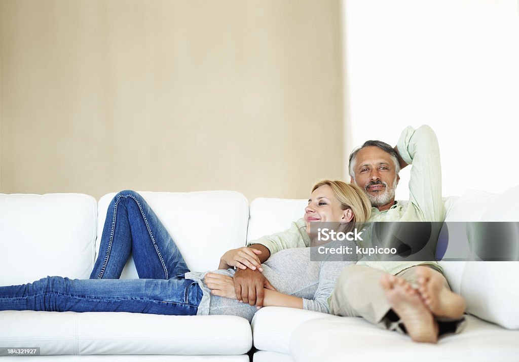
[[306,223],[303,218],[292,222],[290,229],[276,234],[263,236],[263,238],[252,240],[247,246],[253,244],[262,244],[270,251],[270,255],[279,252],[279,250],[289,249],[293,247],[310,246],[310,236],[306,232]]

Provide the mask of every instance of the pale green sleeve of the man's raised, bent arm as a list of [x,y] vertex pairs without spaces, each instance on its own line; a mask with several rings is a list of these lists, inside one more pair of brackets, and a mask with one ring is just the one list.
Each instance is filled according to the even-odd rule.
[[[397,144],[402,159],[412,165],[409,203],[422,221],[443,221],[442,170],[438,138],[427,125],[404,129]],[[411,206],[410,205],[410,206]]]

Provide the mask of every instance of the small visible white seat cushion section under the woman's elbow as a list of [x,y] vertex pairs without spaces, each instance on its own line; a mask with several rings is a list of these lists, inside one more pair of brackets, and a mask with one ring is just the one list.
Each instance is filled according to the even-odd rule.
[[303,309],[264,307],[251,322],[254,347],[258,350],[290,353],[290,336],[301,323],[316,318],[331,318],[330,314]]

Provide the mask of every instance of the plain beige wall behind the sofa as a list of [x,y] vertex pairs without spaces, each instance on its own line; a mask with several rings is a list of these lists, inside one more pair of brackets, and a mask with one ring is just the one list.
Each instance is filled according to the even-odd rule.
[[343,175],[338,0],[0,0],[0,191]]

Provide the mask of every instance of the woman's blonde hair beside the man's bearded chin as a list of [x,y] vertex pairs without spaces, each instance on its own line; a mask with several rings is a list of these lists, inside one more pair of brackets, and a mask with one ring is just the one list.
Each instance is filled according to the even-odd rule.
[[362,224],[370,218],[371,201],[359,186],[347,184],[340,180],[324,179],[313,185],[311,192],[324,185],[328,185],[332,188],[335,197],[340,202],[342,210],[351,208],[353,212],[353,222]]

